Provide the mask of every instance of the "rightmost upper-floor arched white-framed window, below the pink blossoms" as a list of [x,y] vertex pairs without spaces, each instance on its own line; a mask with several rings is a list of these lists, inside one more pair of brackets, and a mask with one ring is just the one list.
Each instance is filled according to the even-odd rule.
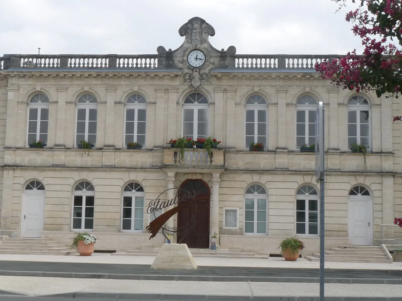
[[353,96],[348,101],[348,146],[363,144],[370,148],[370,105],[361,95]]

